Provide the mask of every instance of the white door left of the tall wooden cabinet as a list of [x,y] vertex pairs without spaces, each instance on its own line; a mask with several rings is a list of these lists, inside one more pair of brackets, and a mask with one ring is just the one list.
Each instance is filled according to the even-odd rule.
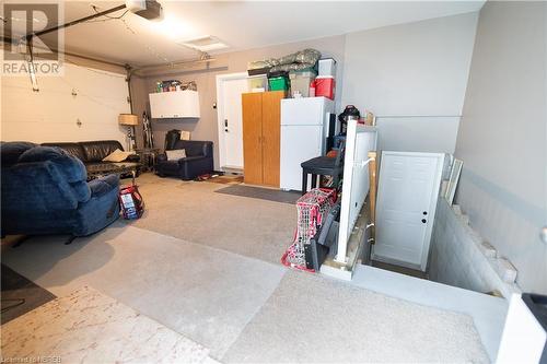
[[243,121],[241,95],[247,92],[247,79],[222,80],[219,125],[221,167],[243,168]]

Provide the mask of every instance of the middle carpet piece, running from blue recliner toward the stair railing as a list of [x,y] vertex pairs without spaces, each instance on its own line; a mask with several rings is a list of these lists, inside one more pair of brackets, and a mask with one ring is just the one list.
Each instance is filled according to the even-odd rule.
[[236,340],[286,272],[279,265],[123,222],[71,245],[31,238],[2,259],[58,296],[92,286],[205,345],[216,357]]

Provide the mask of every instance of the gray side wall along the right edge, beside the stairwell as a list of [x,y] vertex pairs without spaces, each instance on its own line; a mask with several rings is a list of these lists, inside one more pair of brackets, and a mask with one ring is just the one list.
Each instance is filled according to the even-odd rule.
[[546,3],[489,1],[480,11],[456,157],[457,202],[519,270],[547,293]]

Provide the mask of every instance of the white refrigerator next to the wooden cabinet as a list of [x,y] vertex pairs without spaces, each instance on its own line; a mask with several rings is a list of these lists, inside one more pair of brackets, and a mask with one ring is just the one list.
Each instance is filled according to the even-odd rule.
[[324,155],[329,136],[334,102],[326,97],[283,98],[281,101],[280,187],[302,189],[300,164]]

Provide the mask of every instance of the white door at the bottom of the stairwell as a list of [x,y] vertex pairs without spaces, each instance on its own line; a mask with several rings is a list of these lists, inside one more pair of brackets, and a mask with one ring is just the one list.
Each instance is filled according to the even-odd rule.
[[443,154],[384,152],[373,258],[426,270]]

